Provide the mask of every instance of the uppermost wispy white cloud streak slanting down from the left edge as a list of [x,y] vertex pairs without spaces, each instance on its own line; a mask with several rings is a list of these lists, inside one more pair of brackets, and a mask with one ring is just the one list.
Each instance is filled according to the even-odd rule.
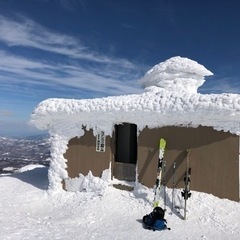
[[31,47],[69,58],[135,68],[126,59],[110,58],[93,51],[76,37],[51,31],[26,17],[17,20],[0,15],[0,41],[11,46]]

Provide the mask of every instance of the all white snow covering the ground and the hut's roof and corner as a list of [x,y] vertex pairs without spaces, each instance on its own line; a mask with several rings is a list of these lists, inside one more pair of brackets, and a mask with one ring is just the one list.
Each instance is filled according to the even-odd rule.
[[[187,201],[187,220],[183,220],[182,189],[176,189],[174,207],[172,189],[167,189],[165,218],[171,230],[151,231],[143,228],[142,218],[153,210],[153,188],[136,181],[124,182],[133,191],[117,189],[114,185],[123,182],[111,179],[110,167],[101,178],[89,173],[86,177],[80,175],[76,181],[72,179],[70,184],[76,191],[66,192],[61,185],[67,177],[63,154],[71,137],[84,134],[82,125],[111,135],[113,122],[137,119],[139,129],[149,123],[161,127],[170,122],[191,127],[202,124],[239,134],[240,95],[197,93],[204,76],[211,74],[196,62],[177,57],[146,74],[146,81],[142,81],[146,89],[141,95],[48,99],[40,103],[32,122],[40,129],[48,129],[51,135],[50,168],[28,164],[12,173],[4,173],[3,169],[0,239],[240,239],[239,202],[192,191]],[[187,89],[182,87],[186,82]],[[162,83],[167,89],[163,89]],[[175,91],[178,87],[180,92]],[[180,113],[178,118],[173,117],[176,112]]]

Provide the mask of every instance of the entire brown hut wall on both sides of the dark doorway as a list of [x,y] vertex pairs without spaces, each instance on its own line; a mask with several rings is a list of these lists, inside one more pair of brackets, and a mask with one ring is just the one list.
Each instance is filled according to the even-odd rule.
[[[106,137],[106,151],[96,152],[96,138],[92,131],[69,141],[64,157],[68,160],[70,178],[79,173],[101,176],[112,162],[114,172],[115,135]],[[153,187],[156,180],[159,139],[167,140],[165,159],[166,180],[172,187],[173,162],[176,162],[176,187],[183,187],[186,170],[186,149],[190,149],[189,161],[192,168],[192,190],[214,194],[220,198],[239,201],[239,137],[230,133],[215,131],[210,127],[145,128],[138,137],[138,180]],[[115,174],[116,175],[116,174]],[[134,176],[135,177],[135,176]]]

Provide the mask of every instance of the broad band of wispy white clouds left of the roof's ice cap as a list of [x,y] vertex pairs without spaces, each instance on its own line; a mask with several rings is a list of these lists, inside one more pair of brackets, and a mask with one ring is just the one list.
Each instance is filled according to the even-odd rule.
[[[93,52],[76,37],[50,31],[31,19],[21,16],[16,21],[0,16],[1,42],[7,46],[0,48],[3,87],[10,82],[53,89],[78,88],[102,95],[139,92],[140,68],[134,63]],[[10,53],[12,47],[45,53],[42,59],[33,59],[31,55]],[[46,60],[51,54],[58,61]]]

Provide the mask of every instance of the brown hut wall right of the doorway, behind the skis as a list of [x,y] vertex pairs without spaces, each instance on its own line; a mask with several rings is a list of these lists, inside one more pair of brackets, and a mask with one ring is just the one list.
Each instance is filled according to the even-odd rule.
[[167,185],[172,187],[173,162],[176,185],[183,187],[186,149],[190,149],[191,189],[239,201],[239,137],[209,127],[145,128],[138,138],[139,182],[153,187],[156,180],[159,138],[167,140]]

